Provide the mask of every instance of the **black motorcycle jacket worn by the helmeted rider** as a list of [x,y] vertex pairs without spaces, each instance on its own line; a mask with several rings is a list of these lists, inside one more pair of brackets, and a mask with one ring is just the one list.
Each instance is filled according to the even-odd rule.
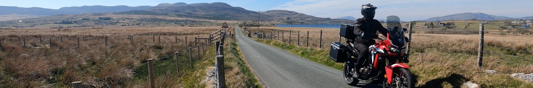
[[362,44],[373,44],[375,42],[373,38],[377,38],[376,30],[387,36],[387,29],[375,19],[359,18],[353,25],[353,34],[357,35],[354,41]]

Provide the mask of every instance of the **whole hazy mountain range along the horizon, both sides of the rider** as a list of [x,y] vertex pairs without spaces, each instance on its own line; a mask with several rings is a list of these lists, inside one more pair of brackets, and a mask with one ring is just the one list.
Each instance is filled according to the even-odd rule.
[[[60,9],[44,9],[41,7],[14,7],[0,6],[0,15],[36,15],[40,17],[58,14],[84,14],[84,13],[115,13],[115,14],[148,14],[148,15],[171,15],[183,18],[198,18],[211,20],[256,20],[257,14],[261,13],[262,21],[294,21],[297,23],[351,23],[354,17],[341,17],[337,19],[318,18],[294,11],[271,10],[266,12],[249,11],[242,7],[233,7],[226,3],[161,3],[157,6],[74,6],[61,7]],[[512,20],[533,19],[532,17],[510,18],[485,13],[458,13],[443,17],[433,17],[422,21],[446,21],[446,20]],[[5,20],[5,19],[0,19]]]

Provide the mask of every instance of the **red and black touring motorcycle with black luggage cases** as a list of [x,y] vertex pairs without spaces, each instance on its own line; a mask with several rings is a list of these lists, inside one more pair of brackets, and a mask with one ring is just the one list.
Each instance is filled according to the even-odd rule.
[[[405,37],[407,29],[401,28],[400,18],[389,16],[386,19],[386,39],[377,38],[378,41],[369,46],[369,57],[360,60],[362,63],[356,67],[357,50],[354,49],[353,26],[342,25],[340,36],[344,37],[347,45],[332,42],[329,58],[335,62],[344,63],[343,76],[346,84],[356,85],[361,82],[371,83],[383,81],[383,87],[414,87],[415,79],[409,71],[409,38]],[[411,28],[412,30],[412,28]],[[357,72],[356,72],[357,71]],[[359,76],[353,75],[359,73]]]

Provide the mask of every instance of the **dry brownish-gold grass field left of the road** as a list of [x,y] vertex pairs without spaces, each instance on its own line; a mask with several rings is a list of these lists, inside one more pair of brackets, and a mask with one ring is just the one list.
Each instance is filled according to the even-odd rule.
[[[187,49],[185,36],[188,36],[188,44],[193,45],[193,37],[206,37],[218,28],[105,27],[0,30],[2,38],[0,86],[69,87],[71,82],[83,81],[85,87],[147,87],[147,77],[138,77],[143,72],[136,70],[142,65],[146,66],[147,59],[161,58]],[[129,35],[133,35],[134,45],[130,44]],[[155,43],[152,41],[152,35],[156,35]],[[27,47],[23,47],[18,41],[18,36],[26,38]],[[41,36],[42,43],[39,42]],[[60,42],[59,36],[62,36],[63,42]],[[108,36],[107,46],[104,45],[103,36]],[[77,47],[77,37],[80,38],[79,47]],[[53,42],[51,47],[50,38]],[[188,55],[184,60],[188,60]],[[175,68],[166,69],[174,69],[175,72]],[[158,71],[165,72],[165,70]],[[177,87],[175,83],[178,82],[176,76],[158,76],[156,81],[156,85],[160,87]]]

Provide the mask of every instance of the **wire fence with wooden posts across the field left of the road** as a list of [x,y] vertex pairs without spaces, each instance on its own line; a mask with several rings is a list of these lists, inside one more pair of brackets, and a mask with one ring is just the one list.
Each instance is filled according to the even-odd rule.
[[[160,53],[155,60],[156,77],[165,78],[163,76],[178,75],[176,71],[184,71],[185,69],[193,68],[193,63],[196,63],[200,57],[203,56],[203,51],[207,50],[209,43],[204,41],[194,41],[195,39],[187,39],[187,36],[0,36],[0,47],[24,47],[28,50],[32,49],[74,49],[91,48],[91,47],[107,47],[109,49],[117,48],[144,48],[151,46],[156,49],[169,49],[165,51],[174,51],[177,49],[179,53]],[[20,39],[19,39],[20,38]],[[192,37],[189,37],[192,38]],[[149,40],[149,41],[148,41]],[[197,43],[197,45],[193,45]],[[127,47],[123,47],[127,46]],[[187,48],[190,47],[190,48]],[[78,48],[78,49],[77,49]],[[83,49],[79,49],[83,50]],[[127,49],[126,49],[127,50]],[[4,50],[5,51],[5,50]],[[176,55],[179,57],[173,58]],[[180,62],[176,62],[180,61]],[[190,60],[190,61],[189,61]],[[148,62],[143,60],[140,67],[147,66]],[[177,67],[177,68],[172,68]],[[133,71],[119,71],[119,73],[108,74],[104,76],[91,76],[83,78],[86,82],[85,87],[117,87],[125,86],[124,83],[130,81],[148,81],[145,75],[148,69],[136,68]],[[130,76],[130,77],[123,77]],[[176,77],[177,78],[177,77]],[[81,84],[81,83],[80,83]],[[159,86],[163,86],[160,84]]]

